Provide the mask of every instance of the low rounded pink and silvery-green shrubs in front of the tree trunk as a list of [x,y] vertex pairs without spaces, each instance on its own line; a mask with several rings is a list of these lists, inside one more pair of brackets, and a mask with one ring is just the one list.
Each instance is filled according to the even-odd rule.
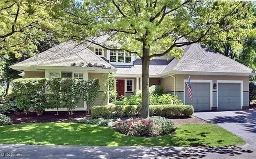
[[153,137],[172,132],[174,124],[164,117],[132,118],[118,123],[116,130],[126,135]]

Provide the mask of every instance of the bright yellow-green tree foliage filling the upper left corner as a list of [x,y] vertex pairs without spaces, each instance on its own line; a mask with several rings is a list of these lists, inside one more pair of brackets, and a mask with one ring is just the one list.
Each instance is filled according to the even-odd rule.
[[47,18],[45,0],[0,1],[0,54],[12,52],[16,58],[36,50],[38,38],[44,38],[45,28],[53,26]]

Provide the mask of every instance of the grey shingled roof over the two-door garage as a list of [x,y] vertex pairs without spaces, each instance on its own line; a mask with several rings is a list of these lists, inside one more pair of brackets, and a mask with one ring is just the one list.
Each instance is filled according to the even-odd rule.
[[252,69],[199,43],[187,46],[184,52],[180,60],[172,60],[161,74],[170,71],[252,73]]

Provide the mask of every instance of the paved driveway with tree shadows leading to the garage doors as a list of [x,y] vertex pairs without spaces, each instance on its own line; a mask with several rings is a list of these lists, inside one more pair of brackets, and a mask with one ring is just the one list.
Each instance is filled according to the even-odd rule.
[[248,143],[256,144],[256,111],[254,110],[196,112],[194,116],[221,126]]

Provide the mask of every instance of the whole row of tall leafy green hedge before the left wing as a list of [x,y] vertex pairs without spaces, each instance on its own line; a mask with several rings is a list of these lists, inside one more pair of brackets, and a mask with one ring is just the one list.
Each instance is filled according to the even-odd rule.
[[44,109],[67,108],[68,114],[83,99],[90,109],[99,95],[100,83],[98,79],[63,79],[63,78],[23,78],[15,79],[13,92],[17,106],[25,112],[36,111],[42,115]]

